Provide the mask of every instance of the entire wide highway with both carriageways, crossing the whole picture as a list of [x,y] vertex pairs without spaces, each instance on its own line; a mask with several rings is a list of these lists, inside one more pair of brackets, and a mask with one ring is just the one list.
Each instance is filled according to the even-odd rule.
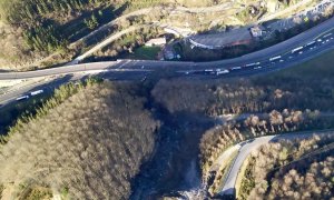
[[[187,78],[247,77],[292,67],[330,50],[334,50],[334,18],[284,42],[228,60],[213,62],[117,60],[27,72],[0,72],[0,80],[81,73],[99,73],[112,80],[141,80],[148,74],[154,74],[154,72],[160,74],[168,72],[168,76]],[[61,83],[65,82],[59,81],[52,88]],[[39,88],[41,86],[42,83]],[[47,83],[45,87],[47,87]],[[7,104],[31,90],[32,88],[28,87],[0,96],[0,104]]]

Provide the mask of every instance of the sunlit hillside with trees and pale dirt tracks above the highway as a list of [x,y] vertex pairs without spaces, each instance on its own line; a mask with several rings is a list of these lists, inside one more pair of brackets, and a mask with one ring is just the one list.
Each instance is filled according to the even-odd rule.
[[[195,32],[225,30],[297,2],[238,0],[230,6],[225,0],[0,0],[0,68],[29,70],[60,66],[107,37],[125,31],[88,61],[116,59],[161,36],[159,26],[150,26],[156,21]],[[249,16],[255,8],[262,14]]]

